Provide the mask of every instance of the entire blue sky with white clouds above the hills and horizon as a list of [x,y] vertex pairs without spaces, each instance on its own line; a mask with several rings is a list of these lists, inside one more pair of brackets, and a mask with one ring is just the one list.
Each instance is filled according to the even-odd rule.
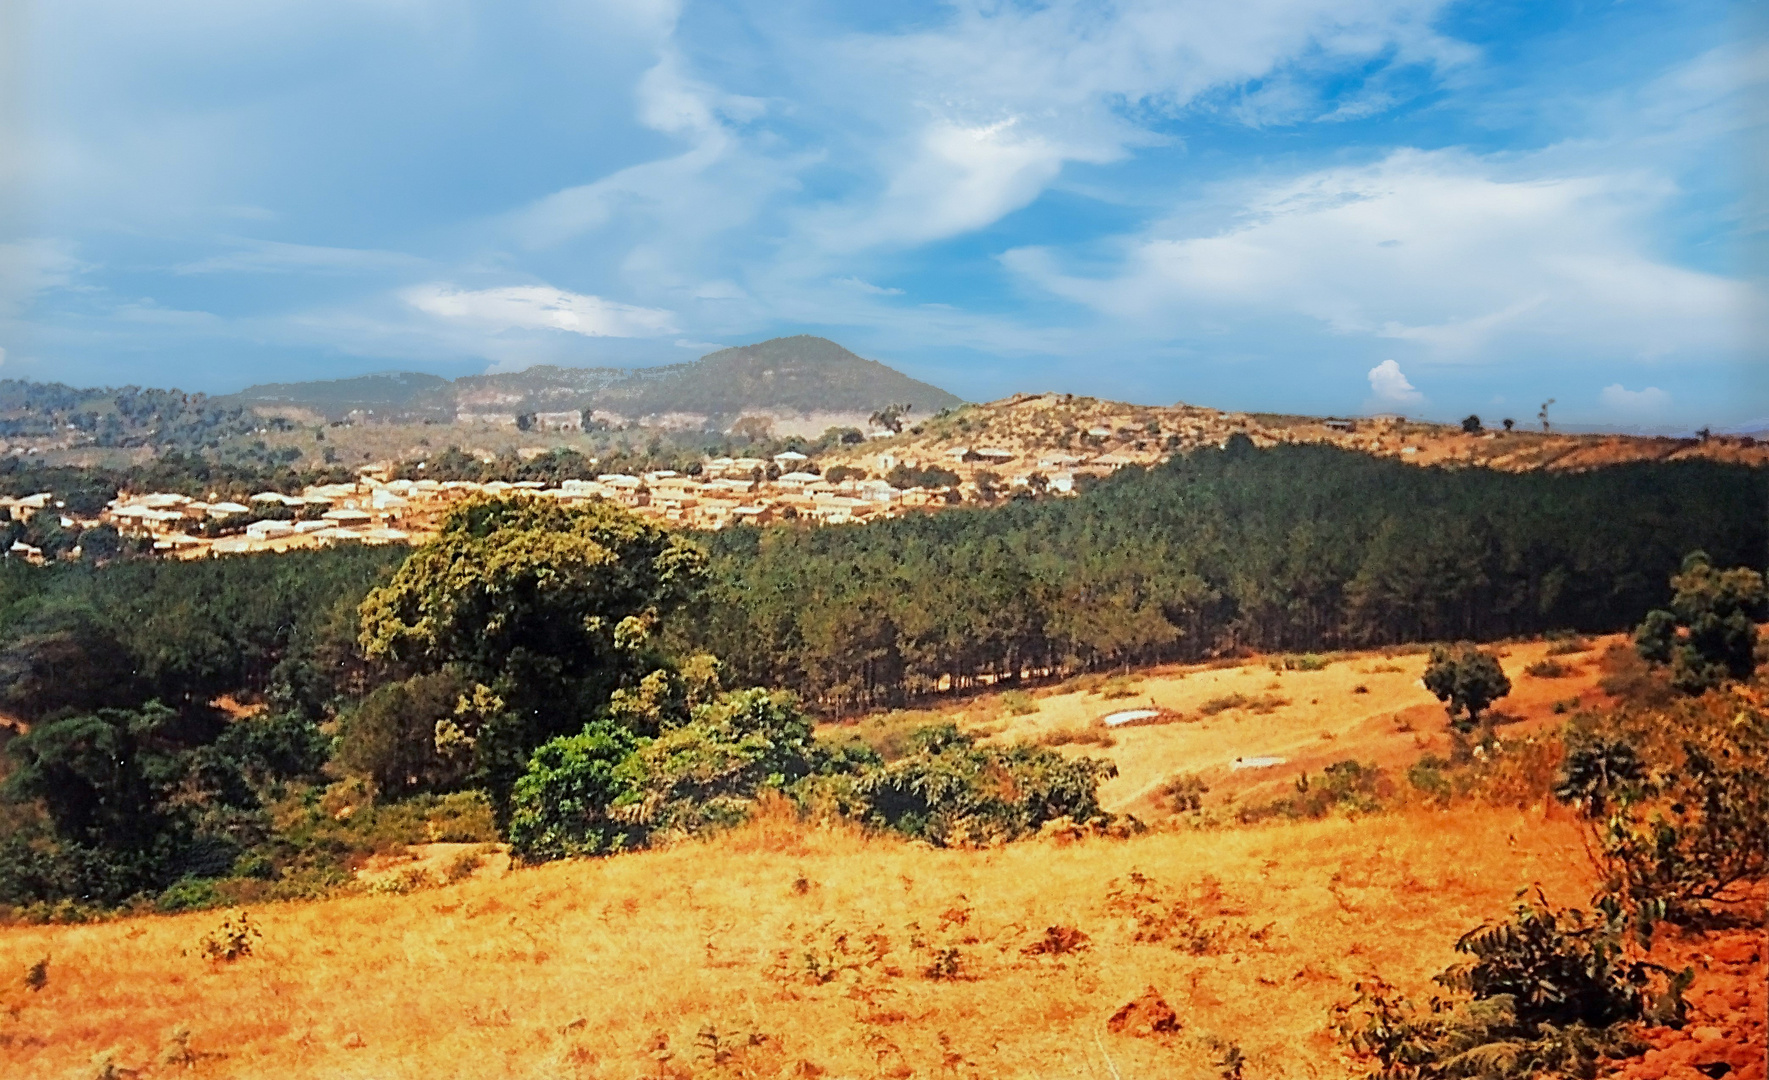
[[0,378],[639,366],[1769,428],[1705,0],[0,0]]

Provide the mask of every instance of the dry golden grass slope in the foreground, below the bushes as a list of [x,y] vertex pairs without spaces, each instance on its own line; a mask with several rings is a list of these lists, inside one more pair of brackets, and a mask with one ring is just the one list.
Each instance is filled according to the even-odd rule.
[[[195,947],[223,912],[7,928],[0,1075],[94,1075],[108,1052],[140,1076],[1166,1080],[1217,1076],[1237,1043],[1247,1076],[1332,1076],[1327,1009],[1359,974],[1422,988],[1530,882],[1583,901],[1578,850],[1571,822],[1511,810],[969,852],[777,813],[709,843],[253,909],[264,937],[234,963]],[[1132,871],[1185,935],[1136,940],[1107,898]],[[1053,926],[1088,940],[1028,953]],[[1183,1029],[1109,1034],[1148,986]]]

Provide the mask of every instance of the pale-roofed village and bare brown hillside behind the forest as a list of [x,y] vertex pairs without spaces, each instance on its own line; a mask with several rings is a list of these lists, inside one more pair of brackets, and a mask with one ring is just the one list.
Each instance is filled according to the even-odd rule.
[[[1176,453],[1226,445],[1330,444],[1415,465],[1500,470],[1576,470],[1622,461],[1679,458],[1769,463],[1769,444],[1748,437],[1636,438],[1566,435],[1502,426],[1477,417],[1461,426],[1378,417],[1279,417],[1191,405],[1137,407],[1074,394],[1015,394],[989,405],[946,410],[906,430],[876,430],[816,458],[793,449],[768,458],[708,456],[686,472],[600,474],[540,481],[412,479],[425,461],[380,461],[354,483],[299,493],[260,491],[246,502],[168,491],[124,491],[96,518],[67,513],[53,491],[0,498],[14,521],[60,513],[62,525],[111,525],[122,537],[173,557],[285,551],[340,543],[423,543],[446,509],[471,495],[527,491],[564,506],[614,502],[685,529],[803,521],[849,525],[1014,497],[1074,495],[1088,479],[1130,465],[1157,465]],[[414,447],[414,456],[423,447]],[[520,458],[550,453],[524,447]],[[486,461],[494,458],[485,454]],[[594,463],[594,458],[589,460]],[[396,475],[405,474],[405,475]],[[16,541],[7,557],[41,562]],[[69,555],[78,557],[78,548]]]

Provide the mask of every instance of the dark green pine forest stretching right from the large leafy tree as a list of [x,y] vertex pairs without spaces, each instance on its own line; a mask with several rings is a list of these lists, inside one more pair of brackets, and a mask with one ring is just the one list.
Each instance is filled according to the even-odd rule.
[[1624,629],[1689,550],[1764,566],[1769,474],[1444,470],[1242,440],[1072,500],[706,544],[685,640],[739,681],[853,707],[1238,649]]

